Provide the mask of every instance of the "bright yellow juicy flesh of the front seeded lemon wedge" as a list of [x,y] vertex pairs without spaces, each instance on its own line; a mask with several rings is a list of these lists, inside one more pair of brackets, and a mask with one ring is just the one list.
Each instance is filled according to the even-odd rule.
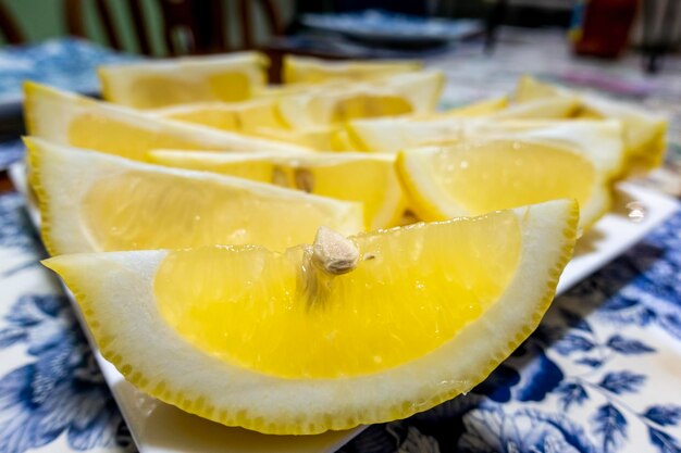
[[305,247],[171,252],[153,291],[197,349],[259,373],[377,373],[453,339],[504,292],[522,240],[509,212],[356,237],[358,267],[329,276]]

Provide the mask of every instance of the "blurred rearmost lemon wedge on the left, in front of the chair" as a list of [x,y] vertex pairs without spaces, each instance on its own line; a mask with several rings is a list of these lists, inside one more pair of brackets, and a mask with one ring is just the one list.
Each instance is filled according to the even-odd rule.
[[183,56],[99,66],[106,100],[136,109],[199,101],[236,102],[267,83],[269,59],[258,52]]

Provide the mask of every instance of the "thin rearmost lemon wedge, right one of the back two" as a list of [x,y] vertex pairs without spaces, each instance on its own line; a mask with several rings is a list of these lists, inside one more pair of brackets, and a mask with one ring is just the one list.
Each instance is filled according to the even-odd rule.
[[284,55],[285,84],[324,84],[337,80],[372,80],[399,73],[416,72],[421,64],[410,61],[329,61],[310,56]]

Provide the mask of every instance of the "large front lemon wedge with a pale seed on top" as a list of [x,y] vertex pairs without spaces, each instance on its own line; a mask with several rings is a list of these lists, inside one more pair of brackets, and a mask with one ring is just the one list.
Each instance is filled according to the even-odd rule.
[[228,426],[311,435],[467,392],[538,325],[574,246],[553,201],[311,246],[53,257],[133,385]]

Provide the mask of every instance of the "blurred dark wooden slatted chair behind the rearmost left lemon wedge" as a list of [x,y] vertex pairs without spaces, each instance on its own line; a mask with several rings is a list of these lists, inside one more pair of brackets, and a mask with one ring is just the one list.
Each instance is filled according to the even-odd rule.
[[[83,7],[85,0],[64,0],[66,28],[71,35],[87,38]],[[145,55],[158,56],[152,49],[149,36],[149,21],[145,16],[144,0],[89,0],[94,1],[98,21],[110,47],[123,49],[120,29],[116,27],[111,7],[113,1],[125,4],[133,25],[137,51]],[[169,55],[206,54],[256,47],[252,5],[259,3],[273,35],[283,26],[275,0],[237,1],[238,20],[232,24],[240,27],[240,46],[227,42],[227,16],[224,0],[157,0],[161,13],[162,41]],[[120,7],[117,4],[116,7]]]

